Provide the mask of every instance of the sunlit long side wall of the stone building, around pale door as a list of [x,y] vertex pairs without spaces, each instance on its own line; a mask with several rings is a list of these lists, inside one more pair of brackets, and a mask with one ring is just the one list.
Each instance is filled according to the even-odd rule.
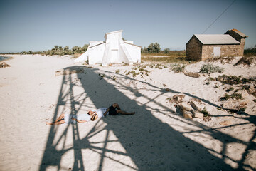
[[202,61],[213,58],[213,48],[220,47],[220,56],[243,56],[243,48],[239,45],[203,45]]

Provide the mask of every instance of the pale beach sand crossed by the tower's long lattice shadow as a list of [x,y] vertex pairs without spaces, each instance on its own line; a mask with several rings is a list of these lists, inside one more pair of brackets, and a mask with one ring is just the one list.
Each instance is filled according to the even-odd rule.
[[[147,66],[151,73],[144,78],[124,73],[132,66],[85,66],[85,73],[55,76],[57,70],[75,68],[73,60],[33,55],[6,63],[11,67],[0,68],[0,170],[256,169],[252,95],[247,95],[245,113],[238,115],[217,109],[227,85],[206,85],[207,77],[191,78],[169,68]],[[233,63],[215,64],[227,75],[255,76],[254,64]],[[198,72],[202,65],[186,69]],[[176,94],[186,95],[186,101],[202,100],[211,120],[184,119],[166,100]],[[45,125],[61,113],[85,113],[114,102],[136,115]],[[228,125],[220,125],[223,121]]]

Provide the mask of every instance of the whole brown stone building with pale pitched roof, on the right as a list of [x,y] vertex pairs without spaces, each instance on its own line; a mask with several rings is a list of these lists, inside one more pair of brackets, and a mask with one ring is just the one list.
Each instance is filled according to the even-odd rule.
[[205,61],[220,56],[243,56],[247,37],[236,29],[225,34],[194,34],[186,43],[186,58]]

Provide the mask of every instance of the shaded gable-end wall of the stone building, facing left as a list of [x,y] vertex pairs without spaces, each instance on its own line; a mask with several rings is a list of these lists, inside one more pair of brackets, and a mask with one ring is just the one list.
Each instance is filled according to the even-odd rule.
[[192,61],[201,61],[202,44],[195,36],[186,43],[186,58]]

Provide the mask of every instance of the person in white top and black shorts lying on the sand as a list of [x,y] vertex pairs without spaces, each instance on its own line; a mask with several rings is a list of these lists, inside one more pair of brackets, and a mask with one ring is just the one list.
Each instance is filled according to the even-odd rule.
[[132,112],[132,113],[124,112],[123,110],[121,110],[120,106],[117,103],[114,103],[110,105],[109,108],[99,108],[97,110],[89,110],[88,114],[91,115],[91,118],[93,120],[96,120],[98,117],[102,118],[102,117],[105,117],[106,115],[117,115],[117,114],[134,115],[135,112]]

